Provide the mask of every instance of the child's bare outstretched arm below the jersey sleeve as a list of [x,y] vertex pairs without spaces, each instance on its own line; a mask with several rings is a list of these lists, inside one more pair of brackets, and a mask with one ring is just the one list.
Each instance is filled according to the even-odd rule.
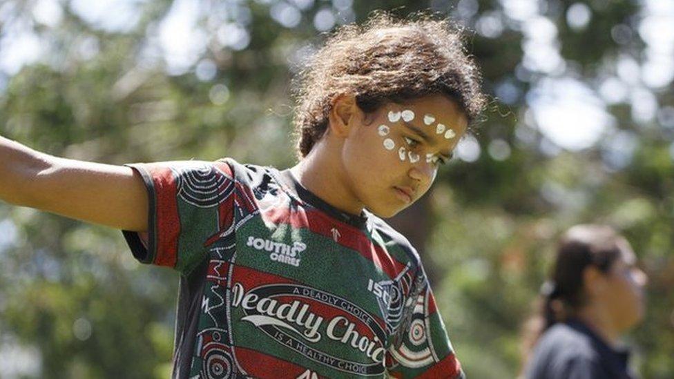
[[146,231],[148,195],[125,166],[53,157],[0,137],[0,200],[128,231]]

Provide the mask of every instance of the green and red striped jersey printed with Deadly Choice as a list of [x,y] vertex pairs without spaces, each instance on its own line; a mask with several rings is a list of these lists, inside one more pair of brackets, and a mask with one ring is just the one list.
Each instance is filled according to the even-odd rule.
[[143,263],[180,273],[173,378],[463,378],[418,254],[364,211],[338,211],[290,171],[131,164]]

